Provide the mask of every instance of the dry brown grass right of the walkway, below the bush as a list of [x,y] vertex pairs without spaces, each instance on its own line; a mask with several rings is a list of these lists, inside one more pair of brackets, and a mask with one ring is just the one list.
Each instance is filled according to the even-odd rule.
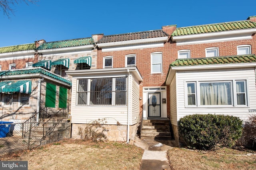
[[172,148],[168,156],[173,170],[254,170],[256,167],[255,151],[248,149],[221,148],[202,152]]

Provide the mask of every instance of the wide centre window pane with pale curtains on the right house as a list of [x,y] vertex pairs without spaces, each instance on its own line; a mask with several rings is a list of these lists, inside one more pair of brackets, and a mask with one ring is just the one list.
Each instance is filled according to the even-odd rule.
[[230,82],[200,83],[201,105],[231,105]]

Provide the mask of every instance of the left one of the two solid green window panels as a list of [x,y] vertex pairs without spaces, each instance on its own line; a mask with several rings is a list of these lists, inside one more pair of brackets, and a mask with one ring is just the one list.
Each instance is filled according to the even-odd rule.
[[55,107],[56,85],[46,83],[45,107]]

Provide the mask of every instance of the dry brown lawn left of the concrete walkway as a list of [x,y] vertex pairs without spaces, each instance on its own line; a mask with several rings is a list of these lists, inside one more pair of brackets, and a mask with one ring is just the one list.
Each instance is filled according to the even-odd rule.
[[69,139],[33,150],[2,156],[0,160],[27,160],[28,169],[140,169],[143,150],[127,143]]

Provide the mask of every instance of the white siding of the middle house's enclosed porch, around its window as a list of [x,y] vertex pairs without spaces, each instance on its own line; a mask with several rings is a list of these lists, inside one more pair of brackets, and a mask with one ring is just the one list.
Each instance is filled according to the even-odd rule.
[[[100,106],[100,105],[76,105],[76,90],[78,79],[73,77],[71,95],[71,123],[91,123],[98,119],[106,118],[106,124],[116,125],[117,121],[127,125],[128,110],[130,110],[130,125],[138,123],[139,116],[139,82],[132,76],[127,80],[127,98],[130,103],[127,106]],[[130,89],[130,91],[128,90]],[[130,107],[130,109],[128,109]]]

